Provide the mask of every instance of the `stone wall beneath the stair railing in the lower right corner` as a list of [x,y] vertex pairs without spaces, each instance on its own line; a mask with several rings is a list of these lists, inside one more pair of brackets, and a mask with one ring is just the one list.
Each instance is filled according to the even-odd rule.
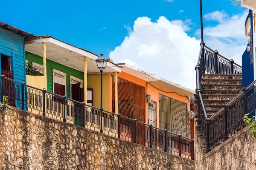
[[245,127],[198,161],[201,170],[256,170],[256,138]]

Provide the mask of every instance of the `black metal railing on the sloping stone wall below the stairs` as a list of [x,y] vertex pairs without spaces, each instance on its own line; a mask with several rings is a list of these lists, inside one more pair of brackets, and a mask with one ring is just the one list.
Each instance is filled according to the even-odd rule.
[[225,103],[223,108],[208,119],[209,133],[207,134],[208,150],[221,144],[245,127],[244,115],[249,117],[256,113],[256,81],[248,87],[244,87],[230,102]]

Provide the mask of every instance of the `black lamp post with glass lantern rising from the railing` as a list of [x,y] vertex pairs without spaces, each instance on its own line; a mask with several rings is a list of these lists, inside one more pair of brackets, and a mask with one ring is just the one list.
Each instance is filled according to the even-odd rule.
[[100,71],[100,118],[101,118],[101,123],[100,123],[100,132],[103,132],[103,108],[102,108],[102,73],[104,68],[107,66],[108,60],[103,57],[103,54],[100,54],[100,57],[96,59],[97,66]]

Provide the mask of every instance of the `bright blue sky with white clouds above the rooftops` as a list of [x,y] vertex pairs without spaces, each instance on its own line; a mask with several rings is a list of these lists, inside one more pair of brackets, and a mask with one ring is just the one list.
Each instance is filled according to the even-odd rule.
[[[3,1],[0,12],[3,23],[195,87],[199,0]],[[247,14],[229,0],[203,0],[203,13],[206,44],[241,64]]]

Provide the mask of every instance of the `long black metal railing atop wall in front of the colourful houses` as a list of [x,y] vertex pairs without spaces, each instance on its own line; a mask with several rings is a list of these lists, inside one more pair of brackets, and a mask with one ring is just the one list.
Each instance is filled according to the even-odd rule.
[[24,111],[47,116],[157,150],[194,159],[194,139],[145,124],[121,114],[68,99],[0,76],[1,100],[12,96],[9,105]]

